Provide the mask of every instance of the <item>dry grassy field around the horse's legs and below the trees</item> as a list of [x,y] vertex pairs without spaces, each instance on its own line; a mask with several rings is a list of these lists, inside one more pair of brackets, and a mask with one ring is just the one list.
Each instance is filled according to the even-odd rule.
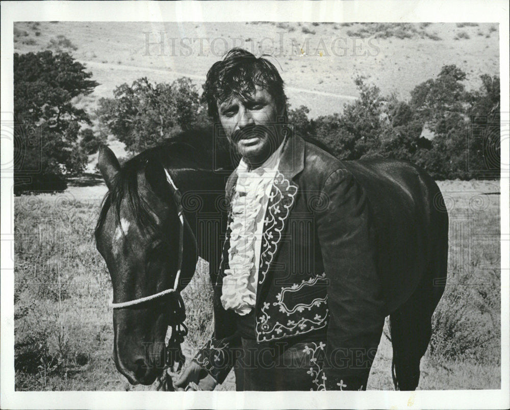
[[[419,388],[498,389],[499,195],[484,193],[499,192],[499,183],[446,181],[440,187],[450,214],[449,279]],[[16,390],[151,389],[131,386],[111,358],[111,284],[92,235],[104,191],[71,187],[61,195],[15,198]],[[201,261],[183,295],[188,357],[212,331],[206,271]],[[393,389],[391,356],[383,335],[369,389]],[[219,388],[233,390],[233,375]]]

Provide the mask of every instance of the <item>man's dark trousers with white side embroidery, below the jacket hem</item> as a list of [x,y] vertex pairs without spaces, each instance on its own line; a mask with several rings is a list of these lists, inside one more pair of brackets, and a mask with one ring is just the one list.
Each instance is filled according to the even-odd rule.
[[241,341],[236,352],[236,390],[324,390],[324,340]]

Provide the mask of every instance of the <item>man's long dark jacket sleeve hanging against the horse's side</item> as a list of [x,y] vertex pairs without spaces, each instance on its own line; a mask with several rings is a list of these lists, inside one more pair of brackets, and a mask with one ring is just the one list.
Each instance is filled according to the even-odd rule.
[[326,389],[364,390],[386,316],[370,204],[345,169],[327,177],[321,195],[326,202],[316,221],[330,315]]

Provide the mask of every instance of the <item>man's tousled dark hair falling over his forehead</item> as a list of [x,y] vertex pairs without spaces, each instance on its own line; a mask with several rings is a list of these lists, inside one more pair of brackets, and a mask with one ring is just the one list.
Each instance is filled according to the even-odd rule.
[[202,86],[202,101],[207,102],[208,114],[216,121],[217,101],[223,102],[233,96],[247,98],[256,86],[267,89],[278,110],[285,109],[284,81],[276,67],[264,57],[255,57],[242,48],[232,48],[223,60],[209,69],[206,83]]

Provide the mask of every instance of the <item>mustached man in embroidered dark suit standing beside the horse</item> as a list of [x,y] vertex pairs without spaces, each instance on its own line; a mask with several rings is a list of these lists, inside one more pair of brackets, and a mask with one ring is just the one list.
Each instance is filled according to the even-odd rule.
[[385,319],[369,203],[342,162],[294,135],[283,80],[232,49],[208,72],[209,114],[241,157],[228,179],[215,332],[177,388],[364,390]]

